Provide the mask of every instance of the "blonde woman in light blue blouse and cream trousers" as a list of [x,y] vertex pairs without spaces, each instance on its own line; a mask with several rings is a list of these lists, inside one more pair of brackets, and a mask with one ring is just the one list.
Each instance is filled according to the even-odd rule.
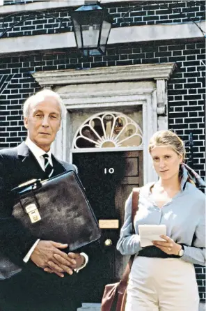
[[[205,265],[205,195],[195,183],[204,182],[184,165],[184,144],[174,132],[156,132],[149,152],[159,180],[141,188],[136,234],[129,195],[117,245],[122,255],[136,255],[125,311],[198,311],[193,264]],[[166,225],[164,241],[141,248],[138,225]]]

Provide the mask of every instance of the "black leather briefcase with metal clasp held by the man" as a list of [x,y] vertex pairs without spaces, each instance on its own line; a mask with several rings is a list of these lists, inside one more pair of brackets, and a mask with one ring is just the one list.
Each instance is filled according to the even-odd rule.
[[[100,239],[100,228],[93,209],[74,171],[70,170],[46,181],[29,181],[13,191],[17,197],[13,216],[33,236],[67,243],[70,251]],[[21,271],[21,268],[1,254],[0,264],[0,280]]]

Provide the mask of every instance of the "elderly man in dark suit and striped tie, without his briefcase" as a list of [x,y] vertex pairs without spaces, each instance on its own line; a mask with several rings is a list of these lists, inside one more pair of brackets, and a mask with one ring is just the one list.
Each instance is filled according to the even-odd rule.
[[0,151],[1,248],[24,267],[13,278],[0,281],[1,311],[77,310],[76,289],[81,274],[77,272],[86,266],[87,255],[67,254],[68,245],[32,236],[13,218],[14,198],[10,193],[20,183],[66,171],[68,163],[57,160],[50,149],[64,113],[58,94],[49,90],[36,93],[24,103],[26,141]]

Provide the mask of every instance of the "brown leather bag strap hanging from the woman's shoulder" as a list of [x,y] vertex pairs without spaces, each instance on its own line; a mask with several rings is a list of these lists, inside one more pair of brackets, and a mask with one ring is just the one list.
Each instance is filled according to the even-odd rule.
[[[133,188],[132,190],[132,234],[135,233],[134,230],[134,216],[136,215],[136,212],[138,211],[138,198],[139,198],[139,188]],[[118,293],[123,294],[125,292],[125,288],[127,287],[127,282],[129,279],[129,273],[132,268],[132,263],[134,261],[134,256],[132,255],[129,258],[129,262],[125,268],[125,271],[122,275],[122,279],[120,280],[120,285],[118,287]]]

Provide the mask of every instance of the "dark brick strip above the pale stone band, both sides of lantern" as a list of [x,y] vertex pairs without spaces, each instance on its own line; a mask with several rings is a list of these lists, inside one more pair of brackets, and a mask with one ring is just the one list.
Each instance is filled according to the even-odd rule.
[[[13,1],[11,3],[14,3]],[[22,1],[24,3],[24,1]],[[132,1],[131,3],[105,3],[104,7],[113,17],[113,28],[149,24],[200,22],[205,20],[205,1]],[[71,12],[74,8],[50,9],[47,13],[23,16],[0,16],[0,29],[8,29],[15,22],[26,19],[5,33],[5,37],[32,36],[43,33],[73,31]],[[131,11],[129,11],[131,10]],[[54,18],[56,17],[56,18]],[[59,22],[61,19],[62,25]],[[3,24],[4,20],[4,24]],[[61,26],[61,27],[60,27]],[[0,31],[1,32],[1,31]]]

